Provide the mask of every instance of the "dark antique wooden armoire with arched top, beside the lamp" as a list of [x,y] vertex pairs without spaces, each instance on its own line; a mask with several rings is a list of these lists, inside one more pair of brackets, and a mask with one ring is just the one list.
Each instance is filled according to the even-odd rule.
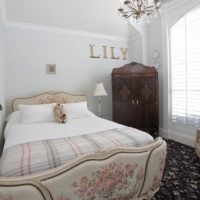
[[158,135],[158,73],[130,63],[112,71],[113,121]]

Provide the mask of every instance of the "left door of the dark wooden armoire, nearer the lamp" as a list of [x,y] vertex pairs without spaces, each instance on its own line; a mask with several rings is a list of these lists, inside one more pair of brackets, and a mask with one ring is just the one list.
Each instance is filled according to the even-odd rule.
[[133,80],[131,77],[113,77],[113,120],[133,126]]

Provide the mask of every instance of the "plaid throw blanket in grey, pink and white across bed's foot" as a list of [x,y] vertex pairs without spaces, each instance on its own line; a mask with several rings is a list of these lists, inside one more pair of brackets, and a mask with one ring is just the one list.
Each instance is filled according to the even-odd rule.
[[77,157],[115,147],[140,147],[153,138],[130,127],[8,148],[0,160],[1,176],[25,176],[58,167]]

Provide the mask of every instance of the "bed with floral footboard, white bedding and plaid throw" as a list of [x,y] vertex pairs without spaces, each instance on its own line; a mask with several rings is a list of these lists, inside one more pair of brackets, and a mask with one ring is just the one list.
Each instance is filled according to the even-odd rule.
[[[0,160],[0,200],[153,197],[164,171],[166,142],[97,117],[87,110],[86,102],[84,95],[64,92],[13,101]],[[20,106],[48,105],[49,109],[54,103],[69,109],[66,124],[30,123],[33,119],[28,115],[24,120],[29,123],[21,123]]]

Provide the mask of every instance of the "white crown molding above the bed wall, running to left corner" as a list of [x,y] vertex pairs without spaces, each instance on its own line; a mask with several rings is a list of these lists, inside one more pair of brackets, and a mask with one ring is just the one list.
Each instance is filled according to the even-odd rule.
[[128,42],[130,41],[129,37],[124,36],[116,36],[116,35],[107,35],[101,33],[93,33],[93,32],[86,32],[80,31],[75,29],[67,29],[67,28],[59,28],[59,27],[51,27],[46,25],[37,25],[32,23],[26,22],[19,22],[19,21],[12,21],[7,18],[7,9],[5,0],[0,0],[0,11],[2,22],[5,27],[8,28],[15,28],[27,31],[43,31],[48,33],[57,33],[57,34],[68,34],[73,36],[80,36],[80,37],[90,37],[94,39],[103,39],[103,40],[110,40],[110,41],[122,41]]

